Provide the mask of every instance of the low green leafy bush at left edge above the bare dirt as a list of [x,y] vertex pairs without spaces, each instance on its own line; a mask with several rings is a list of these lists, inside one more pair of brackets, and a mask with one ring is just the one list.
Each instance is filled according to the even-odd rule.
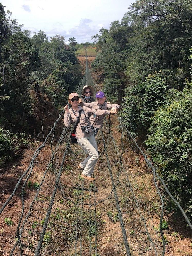
[[30,137],[25,133],[16,135],[0,128],[0,164],[4,164],[23,153],[24,149],[32,144]]

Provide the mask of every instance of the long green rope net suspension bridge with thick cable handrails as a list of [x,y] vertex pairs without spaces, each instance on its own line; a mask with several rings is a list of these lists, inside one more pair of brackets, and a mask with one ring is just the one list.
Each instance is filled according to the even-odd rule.
[[[89,71],[87,56],[85,75],[77,88],[80,95],[84,85],[98,90]],[[0,210],[2,213],[25,177],[21,192],[23,209],[10,255],[164,255],[165,241],[161,229],[163,199],[156,185],[155,168],[150,166],[146,155],[141,152],[153,170],[162,202],[161,236],[154,228],[153,217],[145,203],[138,198],[138,187],[124,169],[123,143],[120,151],[112,136],[110,119],[105,119],[96,137],[101,154],[94,170],[96,180],[89,183],[80,178],[81,172],[77,169],[85,154],[77,144],[70,143],[73,128],[64,127],[57,145],[52,145],[57,122],[63,113],[60,113],[45,142],[34,153],[28,169]],[[121,120],[120,126],[122,135],[129,133]],[[51,136],[52,157],[26,211],[24,188],[32,173],[34,160]],[[190,221],[186,220],[191,227]]]

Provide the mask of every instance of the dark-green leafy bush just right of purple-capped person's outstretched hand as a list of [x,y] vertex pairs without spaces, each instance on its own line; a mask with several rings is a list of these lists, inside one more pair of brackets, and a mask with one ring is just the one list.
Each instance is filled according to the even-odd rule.
[[150,118],[165,103],[166,88],[161,72],[155,72],[127,93],[120,117],[128,129],[137,135],[148,130]]

